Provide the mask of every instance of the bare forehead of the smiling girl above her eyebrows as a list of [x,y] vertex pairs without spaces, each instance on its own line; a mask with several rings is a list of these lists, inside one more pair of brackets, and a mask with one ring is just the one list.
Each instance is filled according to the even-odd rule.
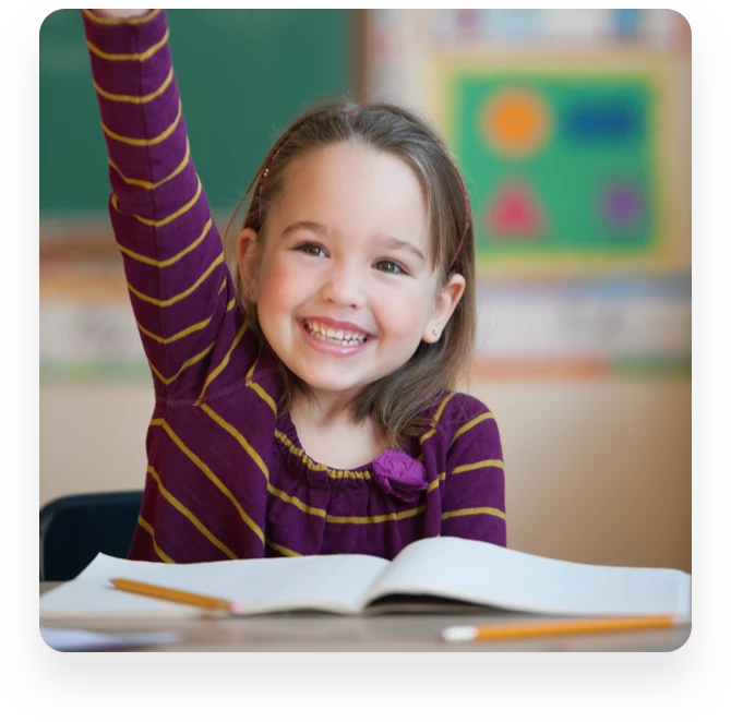
[[312,220],[341,233],[387,233],[428,250],[424,192],[410,166],[391,153],[337,143],[287,168],[277,221]]

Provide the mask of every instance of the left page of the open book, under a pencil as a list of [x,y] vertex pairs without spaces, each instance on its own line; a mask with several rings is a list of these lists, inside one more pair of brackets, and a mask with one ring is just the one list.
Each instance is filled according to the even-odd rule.
[[120,577],[219,597],[242,606],[242,614],[317,610],[357,614],[386,559],[366,555],[236,559],[201,564],[133,562],[99,554],[76,579],[40,597],[44,619],[74,616],[197,616],[187,604],[143,597],[112,587]]

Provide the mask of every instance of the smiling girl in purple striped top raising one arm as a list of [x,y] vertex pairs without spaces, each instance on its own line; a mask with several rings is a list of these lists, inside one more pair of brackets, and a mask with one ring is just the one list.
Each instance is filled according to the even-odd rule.
[[312,110],[262,163],[224,250],[165,12],[82,17],[155,388],[130,557],[505,545],[495,420],[452,390],[474,346],[475,251],[435,133],[390,105]]

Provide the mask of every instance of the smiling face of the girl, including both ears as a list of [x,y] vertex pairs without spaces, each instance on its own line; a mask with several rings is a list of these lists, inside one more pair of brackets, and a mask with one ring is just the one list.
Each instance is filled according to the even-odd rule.
[[439,338],[464,289],[460,276],[440,288],[432,270],[415,171],[362,145],[293,160],[257,263],[255,241],[242,231],[244,288],[275,353],[315,393],[350,396],[402,366]]

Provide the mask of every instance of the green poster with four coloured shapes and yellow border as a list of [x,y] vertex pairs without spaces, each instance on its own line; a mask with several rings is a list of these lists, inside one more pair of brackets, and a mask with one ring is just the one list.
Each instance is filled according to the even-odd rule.
[[678,270],[661,74],[455,67],[443,77],[481,272]]

